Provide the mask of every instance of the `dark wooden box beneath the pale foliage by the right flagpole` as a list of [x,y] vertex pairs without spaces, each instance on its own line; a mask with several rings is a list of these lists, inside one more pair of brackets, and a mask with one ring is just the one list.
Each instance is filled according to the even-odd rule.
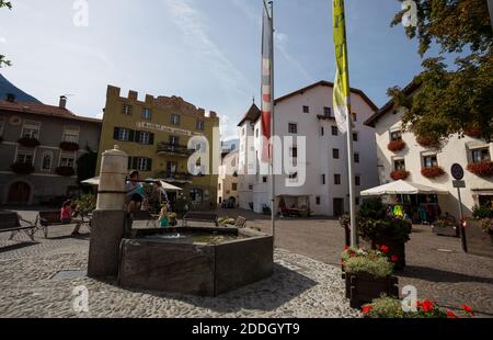
[[399,298],[399,279],[395,276],[376,277],[368,273],[346,273],[346,297],[352,308],[362,308],[386,293]]

